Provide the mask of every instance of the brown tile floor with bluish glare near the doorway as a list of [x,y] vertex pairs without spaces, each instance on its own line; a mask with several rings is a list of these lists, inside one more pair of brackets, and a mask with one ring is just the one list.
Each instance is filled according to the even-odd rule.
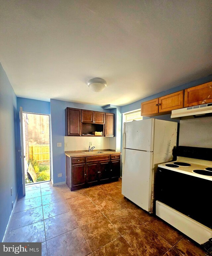
[[42,242],[42,255],[205,255],[121,193],[122,182],[71,192],[50,182],[19,198],[7,242]]

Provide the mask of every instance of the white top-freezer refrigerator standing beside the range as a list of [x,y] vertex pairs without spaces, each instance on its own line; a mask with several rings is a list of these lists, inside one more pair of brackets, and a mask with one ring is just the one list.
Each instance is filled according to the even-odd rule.
[[176,122],[151,118],[124,123],[122,194],[147,212],[153,212],[157,166],[173,159],[176,141]]

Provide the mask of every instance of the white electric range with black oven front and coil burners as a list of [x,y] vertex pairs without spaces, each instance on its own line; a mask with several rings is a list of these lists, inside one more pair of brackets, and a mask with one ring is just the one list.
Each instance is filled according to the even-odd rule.
[[199,244],[212,237],[212,148],[179,146],[155,183],[157,216]]

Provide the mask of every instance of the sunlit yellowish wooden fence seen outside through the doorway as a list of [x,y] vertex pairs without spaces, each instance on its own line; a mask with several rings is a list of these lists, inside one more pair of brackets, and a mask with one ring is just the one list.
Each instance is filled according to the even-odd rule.
[[50,161],[49,144],[35,144],[29,146],[29,158],[34,158],[39,163]]

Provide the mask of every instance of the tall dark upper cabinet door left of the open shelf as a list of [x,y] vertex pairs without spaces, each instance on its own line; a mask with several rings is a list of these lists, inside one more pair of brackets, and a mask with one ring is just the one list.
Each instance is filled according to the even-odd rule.
[[81,136],[81,109],[66,108],[66,136]]

